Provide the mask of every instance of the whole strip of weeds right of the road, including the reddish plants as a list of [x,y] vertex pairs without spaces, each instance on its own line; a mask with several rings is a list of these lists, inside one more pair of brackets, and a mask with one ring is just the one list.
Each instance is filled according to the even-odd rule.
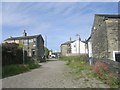
[[90,66],[86,59],[86,56],[62,57],[62,60],[65,60],[66,65],[72,68],[71,70],[77,78],[84,78],[82,72],[87,71],[86,76],[89,78],[98,78],[113,88],[120,86],[119,78],[109,71],[105,63],[97,61],[95,65]]

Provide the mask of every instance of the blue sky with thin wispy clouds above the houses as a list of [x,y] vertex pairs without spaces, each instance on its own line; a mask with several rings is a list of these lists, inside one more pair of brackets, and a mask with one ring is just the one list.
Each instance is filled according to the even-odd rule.
[[[0,3],[1,4],[1,3]],[[47,47],[60,51],[66,41],[87,39],[95,14],[118,14],[117,2],[2,2],[2,38],[41,34]],[[0,16],[1,17],[1,16]],[[46,42],[46,41],[45,41]]]

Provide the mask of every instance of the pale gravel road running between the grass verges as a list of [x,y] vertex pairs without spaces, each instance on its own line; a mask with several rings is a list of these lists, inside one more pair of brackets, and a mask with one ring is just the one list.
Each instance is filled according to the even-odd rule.
[[4,78],[3,88],[109,88],[96,79],[75,80],[64,61],[49,60],[30,72]]

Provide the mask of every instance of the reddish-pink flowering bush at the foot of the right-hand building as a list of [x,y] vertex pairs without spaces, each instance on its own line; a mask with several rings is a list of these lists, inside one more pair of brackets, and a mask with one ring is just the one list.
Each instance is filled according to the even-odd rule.
[[96,76],[106,84],[110,85],[111,87],[120,85],[119,78],[109,71],[107,64],[97,61],[92,68]]

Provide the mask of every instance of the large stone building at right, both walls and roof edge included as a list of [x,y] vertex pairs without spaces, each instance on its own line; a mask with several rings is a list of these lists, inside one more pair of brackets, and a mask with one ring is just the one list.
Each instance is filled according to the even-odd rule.
[[93,57],[120,61],[119,22],[119,15],[95,15],[91,33]]

